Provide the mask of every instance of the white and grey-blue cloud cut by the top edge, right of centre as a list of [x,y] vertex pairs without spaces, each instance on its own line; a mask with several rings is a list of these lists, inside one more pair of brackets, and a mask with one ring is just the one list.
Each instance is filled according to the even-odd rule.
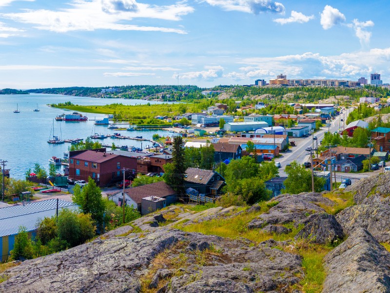
[[272,0],[204,0],[212,6],[219,6],[227,11],[240,11],[259,14],[271,12],[284,14],[285,8],[282,3]]

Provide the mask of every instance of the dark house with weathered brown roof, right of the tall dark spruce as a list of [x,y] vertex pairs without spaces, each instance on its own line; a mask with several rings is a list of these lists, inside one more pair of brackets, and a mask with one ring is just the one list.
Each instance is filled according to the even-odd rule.
[[186,194],[193,202],[214,202],[225,185],[225,178],[215,171],[188,168],[185,172]]

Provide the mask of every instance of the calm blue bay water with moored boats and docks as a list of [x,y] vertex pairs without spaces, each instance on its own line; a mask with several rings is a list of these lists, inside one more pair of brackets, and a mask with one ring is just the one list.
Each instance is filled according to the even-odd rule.
[[[11,169],[11,177],[23,179],[25,172],[34,164],[39,163],[48,169],[49,158],[56,156],[63,157],[63,152],[68,150],[70,143],[61,145],[48,144],[50,136],[53,135],[53,119],[62,113],[70,113],[69,110],[62,110],[47,106],[47,104],[58,104],[70,101],[75,105],[106,105],[122,103],[124,105],[147,104],[143,100],[123,100],[123,99],[99,99],[62,95],[0,95],[0,160],[8,161],[6,168]],[[151,104],[161,104],[150,102]],[[20,113],[14,113],[17,104]],[[39,107],[39,112],[33,110]],[[101,119],[104,115],[88,114],[88,119]],[[96,126],[95,121],[86,122],[59,122],[54,121],[54,133],[62,139],[83,138],[84,140],[93,134],[113,134],[120,132],[125,136],[142,136],[152,139],[154,133],[161,136],[170,134],[163,130],[147,131],[117,131],[107,129],[107,126]],[[117,146],[127,145],[141,147],[141,142],[135,140],[104,139],[98,140],[102,144],[111,145],[113,142]],[[149,142],[142,142],[142,147],[150,145]]]

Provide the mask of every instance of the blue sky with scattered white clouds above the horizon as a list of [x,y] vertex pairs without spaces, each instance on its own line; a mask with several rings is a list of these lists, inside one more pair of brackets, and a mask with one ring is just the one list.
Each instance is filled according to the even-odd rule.
[[390,82],[389,0],[0,0],[0,88]]

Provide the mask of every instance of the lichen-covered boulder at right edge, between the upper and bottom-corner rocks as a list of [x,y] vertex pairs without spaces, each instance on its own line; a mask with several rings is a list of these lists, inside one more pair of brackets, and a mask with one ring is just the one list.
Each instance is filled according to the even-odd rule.
[[348,207],[336,215],[337,222],[347,234],[357,228],[364,228],[372,235],[390,231],[390,205],[388,203],[356,205]]

